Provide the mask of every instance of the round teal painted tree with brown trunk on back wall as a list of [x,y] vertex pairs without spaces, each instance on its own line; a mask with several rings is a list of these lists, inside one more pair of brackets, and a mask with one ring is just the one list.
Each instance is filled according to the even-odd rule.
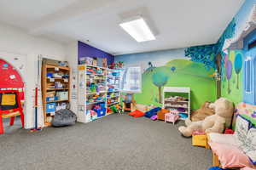
[[152,82],[156,87],[158,87],[159,91],[159,102],[162,103],[162,93],[161,88],[166,85],[168,82],[168,76],[166,76],[165,72],[163,71],[156,71],[152,76]]

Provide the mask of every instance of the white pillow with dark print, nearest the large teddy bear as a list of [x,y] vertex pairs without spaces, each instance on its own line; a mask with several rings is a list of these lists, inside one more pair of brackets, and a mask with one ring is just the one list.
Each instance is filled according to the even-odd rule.
[[240,115],[236,117],[235,137],[239,147],[241,147],[242,144],[246,143],[245,140],[247,139],[247,132],[250,126],[251,122],[249,122],[246,118]]

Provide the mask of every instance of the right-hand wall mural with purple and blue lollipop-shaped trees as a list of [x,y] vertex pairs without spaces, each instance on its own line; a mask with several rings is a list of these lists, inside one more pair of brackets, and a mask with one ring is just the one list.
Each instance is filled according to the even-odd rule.
[[[256,0],[247,0],[217,43],[222,54],[221,95],[235,104],[241,102],[253,104],[253,98],[247,98],[245,92],[245,61],[248,53],[247,39],[256,37],[256,32],[250,34],[250,31],[253,32],[256,28],[255,14]],[[251,55],[255,56],[255,52]],[[253,75],[252,71],[250,70],[250,75]]]

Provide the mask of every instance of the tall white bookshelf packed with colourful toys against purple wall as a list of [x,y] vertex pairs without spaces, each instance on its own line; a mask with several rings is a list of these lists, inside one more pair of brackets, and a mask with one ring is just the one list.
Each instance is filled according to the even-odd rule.
[[[78,122],[91,122],[107,116],[113,113],[109,111],[111,106],[119,105],[119,85],[113,83],[117,83],[118,78],[113,72],[105,67],[79,65]],[[99,108],[97,111],[96,107]]]

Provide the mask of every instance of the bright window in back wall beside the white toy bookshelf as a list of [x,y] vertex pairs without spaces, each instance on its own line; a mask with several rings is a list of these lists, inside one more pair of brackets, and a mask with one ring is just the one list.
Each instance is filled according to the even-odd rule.
[[127,94],[141,93],[142,73],[140,67],[128,67],[121,73],[120,90]]

